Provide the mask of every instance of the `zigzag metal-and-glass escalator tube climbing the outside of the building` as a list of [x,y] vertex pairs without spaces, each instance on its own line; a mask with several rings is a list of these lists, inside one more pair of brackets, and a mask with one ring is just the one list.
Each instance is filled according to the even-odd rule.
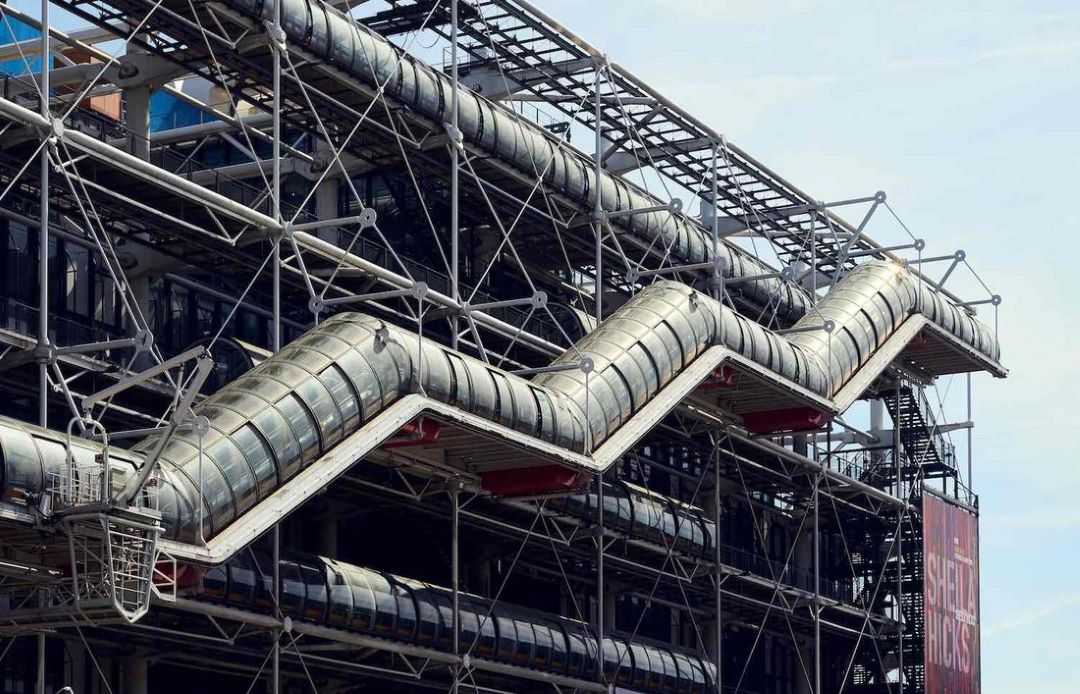
[[[406,394],[588,453],[715,345],[827,399],[913,314],[996,364],[998,345],[985,326],[881,261],[850,272],[795,326],[811,331],[792,336],[686,285],[653,284],[555,362],[571,368],[531,381],[381,319],[338,314],[204,400],[195,412],[210,428],[201,437],[174,434],[160,457],[166,534],[194,543],[220,532]],[[824,321],[835,325],[831,334],[813,330]],[[572,368],[583,357],[593,370]],[[37,427],[18,430],[0,427],[4,496],[32,500],[48,470],[64,463],[64,447],[55,438],[36,443],[27,432]],[[156,443],[149,437],[116,458],[134,465]],[[92,454],[92,445],[82,447],[79,454]]]

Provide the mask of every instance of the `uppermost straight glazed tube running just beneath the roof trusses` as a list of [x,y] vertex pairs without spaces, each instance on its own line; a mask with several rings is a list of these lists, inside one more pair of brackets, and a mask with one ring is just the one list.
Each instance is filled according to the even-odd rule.
[[[228,0],[227,4],[260,21],[273,18],[272,0]],[[283,0],[282,24],[291,43],[303,46],[435,123],[449,121],[449,78],[339,10],[319,0]],[[662,201],[618,176],[604,173],[597,185],[595,164],[589,155],[464,87],[460,89],[460,95],[459,130],[470,146],[542,179],[584,208],[593,208],[597,190],[600,206],[608,213],[664,206]],[[681,214],[666,209],[648,212],[621,216],[612,223],[631,232],[639,246],[670,255],[681,263],[707,262],[714,258],[710,232]],[[727,242],[721,241],[716,253],[729,277],[774,273]],[[785,323],[794,322],[810,307],[806,292],[780,278],[754,280],[732,290],[752,305],[775,312]]]

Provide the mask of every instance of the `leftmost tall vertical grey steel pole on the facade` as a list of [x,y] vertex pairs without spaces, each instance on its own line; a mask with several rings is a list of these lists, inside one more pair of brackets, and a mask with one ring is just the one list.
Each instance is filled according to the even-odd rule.
[[[49,108],[50,0],[41,0],[41,115],[52,125]],[[44,134],[52,137],[52,132]],[[41,198],[38,227],[38,423],[49,426],[49,155],[52,145],[48,139],[41,148]],[[42,599],[44,599],[42,597]],[[45,605],[41,605],[44,608]],[[35,685],[37,694],[45,694],[45,635],[38,635],[38,671]]]

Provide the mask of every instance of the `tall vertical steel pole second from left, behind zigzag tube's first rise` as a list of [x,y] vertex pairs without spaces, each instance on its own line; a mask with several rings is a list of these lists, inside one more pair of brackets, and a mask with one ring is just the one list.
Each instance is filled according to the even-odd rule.
[[[271,349],[274,353],[281,350],[281,52],[284,50],[285,32],[281,27],[281,3],[274,0],[273,25],[271,37],[271,53],[273,54],[273,139],[271,142],[273,171],[270,181],[270,198],[273,204],[273,218],[279,224],[279,233],[273,237],[273,325],[271,326]],[[276,605],[276,616],[281,614],[281,526],[273,526],[273,598]],[[281,630],[273,632],[273,664],[271,667],[270,691],[278,694],[281,691]]]

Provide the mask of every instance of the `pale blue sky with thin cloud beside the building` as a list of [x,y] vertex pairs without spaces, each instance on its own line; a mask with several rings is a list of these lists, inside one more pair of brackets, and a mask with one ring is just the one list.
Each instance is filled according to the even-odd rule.
[[963,248],[1003,296],[1011,377],[975,379],[984,691],[1080,691],[1080,4],[542,6],[813,195],[885,190],[928,253]]

